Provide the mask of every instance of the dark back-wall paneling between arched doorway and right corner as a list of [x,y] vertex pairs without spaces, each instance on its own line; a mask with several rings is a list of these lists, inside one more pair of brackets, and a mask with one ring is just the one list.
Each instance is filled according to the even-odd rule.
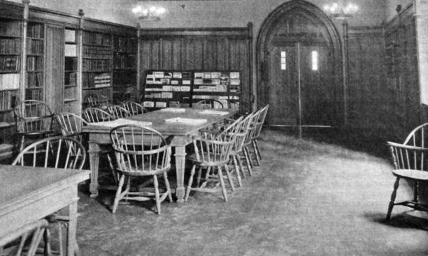
[[350,27],[348,40],[348,124],[351,129],[385,130],[390,107],[385,91],[385,48],[378,27]]

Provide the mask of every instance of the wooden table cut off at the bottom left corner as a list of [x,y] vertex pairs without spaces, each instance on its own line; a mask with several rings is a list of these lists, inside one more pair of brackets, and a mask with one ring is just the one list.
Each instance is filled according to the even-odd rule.
[[67,255],[76,244],[78,186],[88,170],[0,165],[0,237],[69,208]]

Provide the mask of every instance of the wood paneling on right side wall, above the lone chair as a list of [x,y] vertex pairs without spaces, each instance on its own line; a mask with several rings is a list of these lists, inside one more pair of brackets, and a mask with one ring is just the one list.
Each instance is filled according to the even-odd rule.
[[418,60],[413,8],[406,8],[385,26],[385,63],[390,82],[390,104],[398,136],[422,121],[419,104]]

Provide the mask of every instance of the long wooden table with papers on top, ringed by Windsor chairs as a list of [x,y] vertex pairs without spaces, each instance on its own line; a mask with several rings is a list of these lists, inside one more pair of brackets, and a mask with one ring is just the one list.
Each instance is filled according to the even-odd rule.
[[[198,135],[199,130],[219,123],[224,119],[233,116],[238,112],[235,109],[222,109],[218,111],[227,112],[224,115],[218,114],[200,114],[204,110],[185,108],[185,112],[165,112],[156,110],[138,116],[129,117],[135,121],[152,122],[148,126],[158,130],[165,137],[172,136],[171,146],[176,150],[176,177],[177,188],[176,197],[177,202],[184,202],[185,187],[184,187],[184,173],[185,173],[185,158],[186,158],[186,145],[192,142],[192,136]],[[183,123],[168,123],[165,119],[175,117],[182,117],[187,119],[206,119],[206,123],[198,125],[188,125]],[[110,128],[97,125],[97,123],[90,123],[83,128],[83,132],[89,133],[89,151],[90,154],[90,169],[91,169],[91,183],[90,192],[91,197],[98,196],[98,190],[103,189],[98,183],[98,167],[99,167],[99,144],[111,144],[110,142]]]

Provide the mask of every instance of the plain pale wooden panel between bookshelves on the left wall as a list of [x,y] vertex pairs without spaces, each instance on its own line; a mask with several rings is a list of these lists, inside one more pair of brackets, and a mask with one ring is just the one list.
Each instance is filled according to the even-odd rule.
[[64,27],[48,25],[45,38],[45,95],[52,112],[62,112],[64,99]]

